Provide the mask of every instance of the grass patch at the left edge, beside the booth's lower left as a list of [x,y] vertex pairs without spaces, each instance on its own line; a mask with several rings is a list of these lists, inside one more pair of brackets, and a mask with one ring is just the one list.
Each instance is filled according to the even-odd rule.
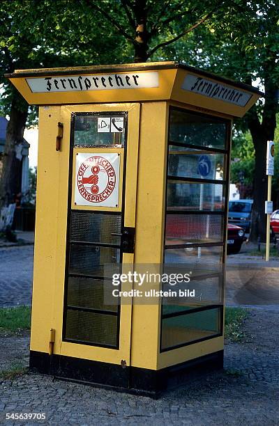
[[31,308],[18,306],[17,308],[0,308],[0,331],[18,333],[29,330],[31,323]]

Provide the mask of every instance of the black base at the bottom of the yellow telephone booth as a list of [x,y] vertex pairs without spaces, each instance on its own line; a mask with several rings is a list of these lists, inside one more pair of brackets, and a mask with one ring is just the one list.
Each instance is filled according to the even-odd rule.
[[56,379],[158,397],[163,390],[182,386],[199,374],[222,369],[223,355],[224,351],[219,351],[156,371],[31,351],[30,371]]

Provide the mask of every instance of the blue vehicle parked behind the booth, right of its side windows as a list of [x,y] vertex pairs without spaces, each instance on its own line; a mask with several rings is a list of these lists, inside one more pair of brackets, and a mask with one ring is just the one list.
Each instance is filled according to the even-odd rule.
[[250,232],[253,200],[229,201],[229,223],[241,226],[245,232]]

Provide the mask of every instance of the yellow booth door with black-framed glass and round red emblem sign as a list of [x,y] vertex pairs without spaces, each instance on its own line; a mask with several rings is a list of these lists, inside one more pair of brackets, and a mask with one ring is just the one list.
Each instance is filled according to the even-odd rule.
[[[69,148],[61,355],[130,364],[139,104],[62,107]],[[64,253],[64,256],[65,256]],[[125,384],[124,384],[125,386]]]

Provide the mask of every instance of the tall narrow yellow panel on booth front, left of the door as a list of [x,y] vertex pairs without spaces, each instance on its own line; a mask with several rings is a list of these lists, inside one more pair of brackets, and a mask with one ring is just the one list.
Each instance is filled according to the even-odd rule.
[[[50,328],[54,328],[56,251],[59,226],[60,154],[55,150],[61,107],[40,108],[38,181],[33,274],[31,350],[48,352]],[[64,169],[67,176],[67,170]]]

